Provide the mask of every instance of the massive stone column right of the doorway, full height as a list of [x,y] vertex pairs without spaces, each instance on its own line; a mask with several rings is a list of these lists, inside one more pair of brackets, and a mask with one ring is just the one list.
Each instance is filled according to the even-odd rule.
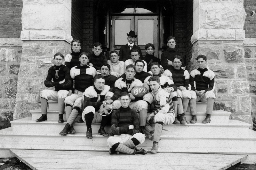
[[214,110],[232,113],[231,119],[252,124],[251,97],[244,60],[246,13],[243,0],[194,0],[193,52],[206,55],[207,67],[215,72]]

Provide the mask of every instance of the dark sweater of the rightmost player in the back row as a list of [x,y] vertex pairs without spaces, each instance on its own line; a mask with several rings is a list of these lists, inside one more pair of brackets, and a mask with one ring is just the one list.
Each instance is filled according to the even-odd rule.
[[[161,63],[162,63],[162,66],[163,66],[164,70],[167,70],[167,69],[171,68],[171,65],[168,65],[168,60],[173,61],[173,58],[174,58],[175,55],[180,55],[179,51],[177,51],[176,48],[174,48],[174,49],[167,48],[162,53],[162,55],[161,55]],[[185,67],[183,56],[181,56],[181,58],[183,60],[181,67]]]

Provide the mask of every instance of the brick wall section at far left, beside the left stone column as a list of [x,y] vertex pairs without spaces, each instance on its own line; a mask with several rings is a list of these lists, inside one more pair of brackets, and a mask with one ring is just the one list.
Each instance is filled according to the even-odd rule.
[[0,38],[20,38],[22,0],[0,1]]

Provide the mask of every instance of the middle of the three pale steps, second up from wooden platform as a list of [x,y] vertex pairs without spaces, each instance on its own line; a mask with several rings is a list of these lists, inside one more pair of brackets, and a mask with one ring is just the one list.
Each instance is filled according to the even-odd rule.
[[[12,123],[12,130],[15,132],[56,132],[60,133],[60,131],[66,125],[64,123],[58,123],[57,121],[45,121],[45,122],[35,122],[31,120],[30,117],[22,118],[19,120],[14,120]],[[74,128],[76,129],[77,133],[86,132],[86,124],[85,123],[77,123],[75,122]],[[153,128],[155,124],[151,125]],[[211,122],[208,124],[204,123],[195,123],[195,124],[187,124],[187,125],[168,125],[164,126],[163,134],[206,134],[212,133],[222,133],[222,134],[230,134],[230,133],[239,133],[239,134],[246,134],[248,132],[249,127],[251,124],[244,123],[238,120],[228,120],[228,123],[223,122]],[[98,133],[100,129],[100,123],[93,123],[92,124],[92,132]],[[111,129],[110,126],[105,128],[106,132],[110,133]]]

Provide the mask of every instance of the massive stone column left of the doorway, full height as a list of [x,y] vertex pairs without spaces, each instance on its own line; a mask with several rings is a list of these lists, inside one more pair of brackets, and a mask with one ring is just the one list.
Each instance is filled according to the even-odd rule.
[[29,117],[29,110],[40,107],[39,93],[53,55],[71,52],[71,1],[23,0],[21,20],[23,49],[13,119]]

